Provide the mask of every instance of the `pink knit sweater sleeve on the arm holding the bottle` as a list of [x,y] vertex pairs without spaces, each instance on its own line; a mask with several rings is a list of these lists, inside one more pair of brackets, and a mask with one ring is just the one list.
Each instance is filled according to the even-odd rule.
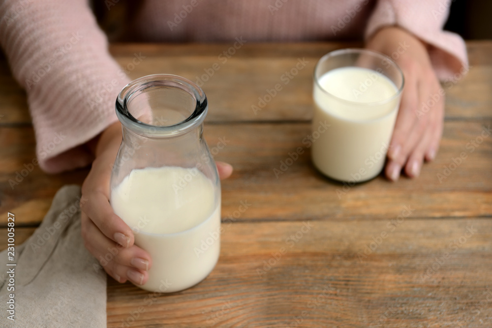
[[90,164],[79,146],[118,120],[116,97],[129,79],[87,0],[3,0],[0,17],[1,46],[27,91],[41,169]]

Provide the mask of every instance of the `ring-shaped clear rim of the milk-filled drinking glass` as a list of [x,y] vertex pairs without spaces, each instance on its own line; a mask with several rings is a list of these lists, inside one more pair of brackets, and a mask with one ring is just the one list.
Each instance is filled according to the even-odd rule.
[[[357,101],[351,101],[351,100],[340,98],[340,97],[334,95],[333,93],[328,92],[323,87],[321,87],[321,85],[319,84],[319,78],[316,76],[316,72],[317,72],[318,66],[320,65],[320,63],[322,61],[326,61],[329,58],[336,57],[336,56],[342,56],[342,55],[348,55],[348,54],[362,54],[362,53],[367,53],[367,54],[369,54],[369,55],[371,55],[373,57],[378,57],[378,58],[380,58],[382,60],[388,60],[390,62],[390,64],[393,67],[396,68],[396,70],[399,72],[399,75],[401,76],[401,86],[400,87],[399,86],[396,86],[397,87],[397,91],[395,92],[395,94],[393,94],[391,97],[388,97],[388,98],[386,98],[384,100],[380,100],[380,101],[357,102]],[[356,67],[356,66],[341,66],[341,67]],[[341,67],[337,67],[337,68],[341,68]],[[329,72],[329,71],[326,71],[325,73],[327,73],[327,72]],[[379,74],[383,74],[383,73],[379,73]],[[369,49],[364,49],[364,48],[344,48],[344,49],[337,49],[337,50],[333,50],[333,51],[329,52],[328,54],[324,55],[323,57],[321,57],[316,62],[316,65],[314,66],[313,80],[314,80],[314,83],[316,84],[316,86],[321,91],[323,91],[323,93],[329,95],[332,98],[337,99],[338,101],[341,101],[341,102],[344,102],[344,103],[347,103],[347,104],[351,104],[351,105],[355,105],[355,106],[358,106],[358,107],[359,106],[360,107],[362,107],[362,106],[377,106],[377,105],[383,105],[383,104],[389,103],[389,102],[395,100],[396,98],[400,97],[400,94],[403,91],[403,87],[405,85],[405,76],[403,75],[403,71],[401,70],[400,66],[398,66],[398,64],[391,57],[389,57],[389,56],[387,56],[385,54],[382,54],[380,52],[377,52],[377,51],[374,51],[374,50],[369,50]]]

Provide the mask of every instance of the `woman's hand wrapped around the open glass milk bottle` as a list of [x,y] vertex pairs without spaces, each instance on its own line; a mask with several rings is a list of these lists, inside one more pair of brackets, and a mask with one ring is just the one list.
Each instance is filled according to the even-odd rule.
[[[82,184],[82,237],[89,252],[116,281],[130,280],[143,285],[147,282],[152,259],[134,244],[132,230],[109,204],[111,170],[121,141],[122,127],[117,122],[89,143],[90,147],[95,145],[95,160]],[[232,167],[226,163],[217,162],[217,169],[220,179],[232,173]]]

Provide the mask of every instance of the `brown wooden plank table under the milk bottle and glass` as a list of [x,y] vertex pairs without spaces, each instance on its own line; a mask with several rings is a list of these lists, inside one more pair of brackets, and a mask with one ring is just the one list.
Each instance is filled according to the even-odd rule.
[[[203,86],[205,135],[210,147],[226,141],[215,158],[235,171],[222,182],[224,233],[210,276],[155,296],[110,278],[108,327],[492,327],[492,136],[481,138],[492,123],[492,42],[467,43],[472,67],[445,88],[444,137],[421,176],[378,177],[344,194],[337,193],[344,185],[313,169],[302,140],[316,60],[354,44],[246,43],[231,58],[218,57],[231,46],[111,46],[122,66],[134,53],[145,56],[132,78],[172,73],[196,81],[213,72]],[[282,74],[299,59],[307,65],[285,85]],[[7,211],[16,215],[20,242],[56,190],[81,183],[88,171],[50,176],[35,168],[12,190],[8,179],[31,162],[35,142],[26,95],[5,60],[0,79],[5,248]],[[277,83],[282,90],[254,113],[251,106]],[[276,177],[298,147],[306,151]],[[454,166],[462,152],[466,159]]]

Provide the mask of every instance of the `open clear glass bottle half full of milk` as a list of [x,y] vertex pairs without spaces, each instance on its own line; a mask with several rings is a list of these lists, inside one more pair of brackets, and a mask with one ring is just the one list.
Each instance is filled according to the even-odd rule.
[[145,290],[184,290],[217,263],[220,182],[202,136],[207,110],[203,90],[175,75],[139,78],[116,101],[123,142],[110,202],[152,256]]

